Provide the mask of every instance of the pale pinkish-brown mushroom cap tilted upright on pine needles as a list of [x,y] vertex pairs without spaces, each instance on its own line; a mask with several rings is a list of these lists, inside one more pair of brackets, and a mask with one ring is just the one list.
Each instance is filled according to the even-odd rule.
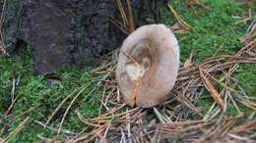
[[149,108],[167,99],[179,66],[179,47],[164,24],[144,25],[123,42],[116,68],[126,104]]

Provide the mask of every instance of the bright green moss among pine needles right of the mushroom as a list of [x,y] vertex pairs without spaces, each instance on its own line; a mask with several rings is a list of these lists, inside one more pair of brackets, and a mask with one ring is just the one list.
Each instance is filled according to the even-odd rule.
[[[207,58],[217,55],[235,54],[243,45],[238,38],[246,33],[250,22],[246,24],[236,24],[238,21],[234,16],[241,17],[249,9],[256,7],[243,5],[238,2],[223,0],[201,0],[201,2],[210,8],[210,11],[202,9],[200,6],[189,8],[184,2],[177,0],[170,1],[169,4],[175,11],[195,30],[188,34],[177,35],[181,50],[181,62],[189,58],[193,51],[194,61],[200,63]],[[162,23],[175,24],[175,18],[167,9],[160,9]],[[197,12],[198,15],[195,15]],[[217,51],[220,51],[217,53]],[[242,65],[234,76],[238,78],[239,85],[250,96],[256,93],[256,69],[254,65]],[[207,92],[205,95],[209,94]],[[212,105],[211,99],[201,99],[197,106],[202,107],[203,113],[206,113]],[[245,109],[245,108],[242,108]],[[251,110],[243,110],[251,113]],[[234,107],[228,107],[227,113],[235,114]]]

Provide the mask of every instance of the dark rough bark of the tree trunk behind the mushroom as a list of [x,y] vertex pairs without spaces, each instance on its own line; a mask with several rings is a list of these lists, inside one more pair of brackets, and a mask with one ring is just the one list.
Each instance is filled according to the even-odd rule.
[[[126,0],[121,1],[127,8]],[[130,2],[136,27],[157,23],[157,0]],[[110,17],[122,22],[116,0],[7,0],[5,41],[11,47],[18,40],[27,42],[38,73],[65,65],[92,66],[126,36]]]

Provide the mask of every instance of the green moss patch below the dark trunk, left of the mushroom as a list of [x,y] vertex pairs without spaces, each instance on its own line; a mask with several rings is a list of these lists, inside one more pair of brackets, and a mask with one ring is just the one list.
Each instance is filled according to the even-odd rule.
[[[28,55],[28,57],[30,56]],[[28,61],[30,61],[29,59],[30,58],[27,58]],[[83,84],[91,83],[95,78],[99,78],[94,77],[93,74],[90,73],[90,69],[79,70],[74,68],[64,68],[61,71],[57,71],[57,74],[62,81],[49,87],[43,76],[33,74],[32,64],[27,60],[23,61],[19,57],[1,57],[0,59],[0,83],[3,87],[0,88],[1,113],[4,113],[10,106],[12,80],[19,76],[20,83],[17,85],[15,93],[17,95],[19,94],[20,97],[15,104],[12,115],[17,117],[32,107],[36,107],[31,114],[19,117],[12,122],[12,125],[5,135],[17,127],[25,117],[31,117],[31,121],[25,126],[25,128],[23,128],[22,132],[14,138],[14,142],[35,142],[38,140],[37,135],[42,135],[43,137],[52,137],[53,135],[56,135],[56,132],[53,130],[42,129],[42,126],[37,124],[34,120],[45,121],[47,119],[46,117],[50,116],[53,110],[66,96],[81,87]],[[99,107],[98,99],[100,97],[100,90],[96,89],[92,92],[94,87],[97,87],[96,83],[93,83],[79,96],[74,103],[74,106],[71,108],[67,119],[65,119],[66,121],[63,128],[68,128],[71,131],[78,132],[85,127],[84,124],[79,123],[80,121],[74,113],[77,109],[86,117],[96,116],[98,113],[97,109]],[[75,95],[73,95],[71,99],[63,105],[59,114],[53,118],[53,122],[51,122],[51,124],[55,128],[58,128],[60,119],[62,119],[61,116],[64,114],[74,96]],[[2,126],[3,124],[0,125]]]

